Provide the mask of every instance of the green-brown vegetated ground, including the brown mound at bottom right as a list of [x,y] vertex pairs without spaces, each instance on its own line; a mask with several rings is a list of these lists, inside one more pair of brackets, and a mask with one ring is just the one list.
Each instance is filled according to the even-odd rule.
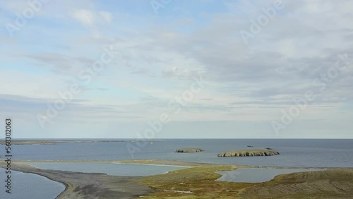
[[284,174],[265,183],[215,181],[221,176],[215,171],[237,168],[204,165],[146,176],[138,182],[155,189],[146,198],[349,198],[353,195],[353,169]]

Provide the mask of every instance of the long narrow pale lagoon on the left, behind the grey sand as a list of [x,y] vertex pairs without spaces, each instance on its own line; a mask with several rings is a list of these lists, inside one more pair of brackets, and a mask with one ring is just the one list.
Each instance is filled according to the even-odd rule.
[[68,163],[68,162],[26,162],[40,169],[61,171],[76,171],[84,173],[102,173],[110,176],[150,176],[164,174],[168,171],[185,169],[189,167],[153,165],[153,164],[120,164],[120,163]]

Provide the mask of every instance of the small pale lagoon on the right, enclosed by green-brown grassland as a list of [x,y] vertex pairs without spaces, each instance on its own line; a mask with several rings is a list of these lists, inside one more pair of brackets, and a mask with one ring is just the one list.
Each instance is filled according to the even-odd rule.
[[260,183],[272,180],[280,174],[291,174],[304,171],[322,171],[322,169],[268,169],[268,168],[240,168],[234,171],[219,171],[222,177],[217,181]]

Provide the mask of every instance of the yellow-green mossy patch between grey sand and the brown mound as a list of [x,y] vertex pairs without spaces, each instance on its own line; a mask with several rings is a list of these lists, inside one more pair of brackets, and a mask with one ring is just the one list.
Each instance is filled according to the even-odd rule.
[[[246,183],[234,183],[215,181],[220,174],[214,171],[229,171],[237,169],[232,165],[206,165],[189,169],[170,171],[168,174],[146,176],[139,180],[152,188],[157,188],[155,193],[148,198],[220,198],[239,195],[241,188]],[[245,186],[246,187],[246,186]],[[175,193],[173,191],[191,191],[190,193]]]

